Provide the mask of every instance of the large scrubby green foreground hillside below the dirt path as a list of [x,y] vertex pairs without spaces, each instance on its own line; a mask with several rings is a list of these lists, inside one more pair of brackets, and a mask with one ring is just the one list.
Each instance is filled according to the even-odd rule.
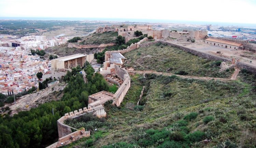
[[121,106],[104,105],[106,119],[87,115],[66,122],[85,127],[91,136],[65,148],[253,148],[255,82],[256,76],[246,70],[231,82],[131,75],[131,87]]

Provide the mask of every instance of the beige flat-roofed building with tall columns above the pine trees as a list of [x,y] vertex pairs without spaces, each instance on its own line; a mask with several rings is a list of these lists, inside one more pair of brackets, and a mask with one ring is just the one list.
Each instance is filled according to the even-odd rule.
[[77,65],[80,65],[81,67],[84,65],[85,61],[88,61],[89,63],[93,60],[94,55],[84,55],[84,54],[75,54],[71,56],[61,57],[57,59],[51,60],[52,63],[52,69],[72,69],[73,67],[76,67]]

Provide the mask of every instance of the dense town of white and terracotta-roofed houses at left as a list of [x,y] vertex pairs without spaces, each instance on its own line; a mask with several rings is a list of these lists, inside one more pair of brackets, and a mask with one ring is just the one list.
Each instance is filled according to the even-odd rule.
[[38,79],[36,74],[51,73],[51,61],[44,59],[43,49],[66,42],[67,39],[63,37],[46,39],[45,36],[37,35],[21,38],[0,36],[0,92],[6,95],[9,92],[17,94],[32,86],[38,87],[43,79]]

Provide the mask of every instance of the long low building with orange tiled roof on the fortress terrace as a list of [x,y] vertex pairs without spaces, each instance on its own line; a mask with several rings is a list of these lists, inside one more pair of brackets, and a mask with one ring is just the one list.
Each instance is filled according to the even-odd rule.
[[242,43],[236,43],[236,42],[214,39],[214,38],[206,39],[206,40],[204,40],[204,43],[210,44],[210,45],[213,45],[213,46],[219,46],[219,47],[223,47],[223,48],[234,49],[234,50],[243,49],[243,44]]

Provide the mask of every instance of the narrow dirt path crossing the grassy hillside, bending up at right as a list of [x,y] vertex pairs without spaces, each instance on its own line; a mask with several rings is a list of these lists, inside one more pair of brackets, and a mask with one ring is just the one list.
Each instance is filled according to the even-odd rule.
[[133,70],[128,70],[128,72],[133,72],[133,73],[138,73],[138,74],[154,73],[154,74],[166,75],[166,76],[176,75],[176,76],[183,77],[183,78],[193,78],[193,79],[203,79],[203,80],[214,79],[214,80],[226,80],[226,81],[236,80],[239,71],[240,70],[238,68],[236,68],[236,70],[234,71],[234,74],[232,75],[231,78],[213,78],[213,77],[184,76],[184,75],[176,75],[176,74],[172,74],[172,73],[162,73],[162,72],[156,72],[156,71],[133,71]]

